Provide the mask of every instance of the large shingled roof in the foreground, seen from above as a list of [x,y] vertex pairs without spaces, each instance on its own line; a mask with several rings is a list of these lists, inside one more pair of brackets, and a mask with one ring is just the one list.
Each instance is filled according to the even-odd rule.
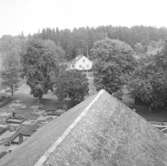
[[166,166],[167,137],[101,90],[37,131],[0,166]]

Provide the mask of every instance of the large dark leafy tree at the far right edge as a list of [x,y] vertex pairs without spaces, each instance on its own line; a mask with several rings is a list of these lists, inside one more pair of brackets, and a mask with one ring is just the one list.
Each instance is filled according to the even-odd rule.
[[167,106],[167,44],[157,55],[149,57],[135,70],[129,82],[136,99],[150,110]]

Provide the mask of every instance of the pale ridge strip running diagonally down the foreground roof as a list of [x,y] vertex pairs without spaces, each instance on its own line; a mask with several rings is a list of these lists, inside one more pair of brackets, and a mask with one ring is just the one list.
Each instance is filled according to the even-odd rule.
[[42,166],[47,160],[49,155],[55,151],[57,146],[69,135],[71,130],[77,125],[77,123],[88,113],[92,105],[99,99],[99,97],[105,92],[105,90],[100,90],[91,103],[81,112],[81,114],[74,120],[74,122],[64,131],[64,133],[48,148],[48,150],[39,158],[39,160],[34,164],[34,166]]

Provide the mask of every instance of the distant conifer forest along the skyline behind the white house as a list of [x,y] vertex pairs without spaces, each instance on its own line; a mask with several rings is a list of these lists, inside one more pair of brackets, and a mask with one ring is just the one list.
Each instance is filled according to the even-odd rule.
[[151,47],[158,47],[155,46],[155,42],[167,39],[167,28],[145,26],[131,28],[99,26],[97,28],[83,27],[73,30],[46,28],[32,36],[53,40],[56,45],[60,45],[64,49],[67,59],[73,59],[80,53],[84,55],[90,53],[94,42],[105,37],[124,41],[134,49],[140,44],[140,47],[142,46],[143,51],[146,52],[150,45]]

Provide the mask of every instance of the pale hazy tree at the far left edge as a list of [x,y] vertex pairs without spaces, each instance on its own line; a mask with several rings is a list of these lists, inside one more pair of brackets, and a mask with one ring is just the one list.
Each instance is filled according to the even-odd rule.
[[9,87],[12,96],[20,81],[20,54],[23,41],[20,38],[11,36],[3,36],[0,40],[2,86]]

